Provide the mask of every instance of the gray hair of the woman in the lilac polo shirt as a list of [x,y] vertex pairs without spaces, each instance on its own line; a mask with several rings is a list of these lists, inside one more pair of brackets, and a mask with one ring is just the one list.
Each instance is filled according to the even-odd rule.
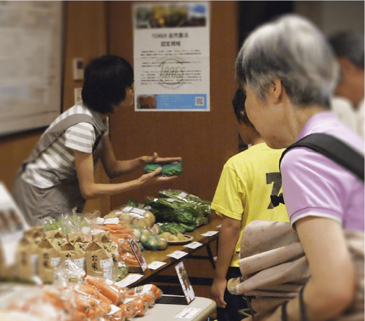
[[325,36],[311,22],[284,15],[254,30],[236,60],[239,86],[250,85],[266,101],[267,85],[279,78],[295,105],[329,105],[339,66]]

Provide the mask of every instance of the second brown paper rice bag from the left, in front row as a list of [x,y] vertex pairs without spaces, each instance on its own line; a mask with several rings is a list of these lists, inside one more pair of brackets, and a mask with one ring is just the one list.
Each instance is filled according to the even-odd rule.
[[39,244],[38,272],[43,282],[54,281],[54,270],[61,264],[60,250],[67,240],[60,230],[44,233]]

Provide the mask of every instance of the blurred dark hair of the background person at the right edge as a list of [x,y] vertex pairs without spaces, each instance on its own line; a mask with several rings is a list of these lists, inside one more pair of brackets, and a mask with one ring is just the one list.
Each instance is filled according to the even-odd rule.
[[362,32],[341,31],[329,37],[337,57],[346,57],[355,65],[365,69],[365,38]]

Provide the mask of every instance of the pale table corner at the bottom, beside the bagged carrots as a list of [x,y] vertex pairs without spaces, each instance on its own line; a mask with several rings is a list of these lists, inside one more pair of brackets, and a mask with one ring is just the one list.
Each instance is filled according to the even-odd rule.
[[[147,310],[146,314],[138,318],[138,321],[206,321],[209,316],[215,311],[216,304],[213,300],[203,297],[196,297],[189,305],[177,304],[155,304],[152,309]],[[185,309],[189,309],[186,311]],[[198,310],[199,309],[199,310]],[[191,313],[192,318],[177,318],[185,310],[185,313]]]

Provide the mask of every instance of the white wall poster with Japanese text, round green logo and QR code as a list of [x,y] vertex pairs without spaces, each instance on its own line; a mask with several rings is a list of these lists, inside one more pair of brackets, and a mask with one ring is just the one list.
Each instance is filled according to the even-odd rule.
[[209,111],[209,1],[133,5],[135,111]]

